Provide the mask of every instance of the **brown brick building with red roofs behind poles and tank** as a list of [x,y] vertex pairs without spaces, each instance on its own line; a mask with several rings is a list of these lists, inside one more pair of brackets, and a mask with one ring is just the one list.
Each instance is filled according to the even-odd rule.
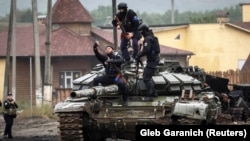
[[[88,72],[99,63],[92,46],[99,40],[102,47],[113,45],[113,32],[92,27],[93,19],[79,0],[57,0],[52,9],[51,33],[51,76],[53,97],[66,96],[72,88],[72,81]],[[46,25],[39,24],[39,49],[41,60],[41,79],[44,82],[46,55]],[[4,76],[8,32],[0,32],[0,75]],[[183,60],[187,64],[190,51],[161,46],[162,56]],[[176,55],[176,52],[181,54]],[[12,56],[12,53],[11,53]],[[170,57],[171,58],[171,57]],[[19,102],[36,104],[35,51],[33,25],[16,28],[16,99]],[[12,64],[9,72],[9,90],[12,87]],[[32,81],[30,81],[32,79]],[[1,77],[0,91],[3,93],[4,77]],[[0,93],[0,94],[2,94]],[[3,95],[0,95],[2,98]],[[65,98],[65,97],[64,97]],[[59,100],[61,100],[59,98]]]

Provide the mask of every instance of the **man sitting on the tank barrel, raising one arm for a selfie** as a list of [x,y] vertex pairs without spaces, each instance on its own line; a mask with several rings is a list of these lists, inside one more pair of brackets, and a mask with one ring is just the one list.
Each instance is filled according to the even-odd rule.
[[123,98],[123,105],[127,105],[127,93],[128,93],[128,88],[126,85],[126,82],[124,79],[121,77],[121,65],[124,62],[123,58],[114,52],[114,49],[112,46],[107,46],[105,48],[105,53],[107,56],[99,53],[97,47],[99,46],[99,42],[96,41],[93,49],[95,56],[97,59],[102,62],[102,64],[105,67],[105,75],[96,77],[93,80],[93,86],[97,86],[100,84],[102,85],[110,85],[110,84],[117,84],[119,87],[119,90],[122,94]]

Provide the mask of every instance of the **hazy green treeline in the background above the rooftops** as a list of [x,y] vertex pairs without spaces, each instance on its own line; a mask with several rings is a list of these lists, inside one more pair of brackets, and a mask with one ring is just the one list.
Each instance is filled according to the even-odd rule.
[[[178,10],[175,10],[175,23],[216,23],[218,11],[225,11],[229,13],[230,22],[241,22],[242,14],[241,7],[239,5],[232,6],[230,8],[224,8],[222,10],[212,10],[205,12],[191,12],[186,11],[180,13]],[[41,13],[39,13],[41,14]],[[172,24],[172,11],[168,10],[163,14],[159,13],[140,13],[137,11],[138,17],[143,20],[144,23],[148,25],[167,25]],[[112,7],[111,6],[99,6],[97,9],[90,11],[90,15],[94,19],[94,26],[112,26],[111,22],[112,17]],[[9,15],[6,15],[0,18],[0,22],[8,22]],[[17,10],[17,22],[32,22],[32,10]]]

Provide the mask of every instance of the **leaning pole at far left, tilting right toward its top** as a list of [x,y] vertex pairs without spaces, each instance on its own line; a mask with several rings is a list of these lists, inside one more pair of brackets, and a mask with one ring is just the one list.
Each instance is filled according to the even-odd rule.
[[9,66],[10,66],[10,51],[11,51],[11,45],[12,45],[13,3],[14,3],[14,0],[11,0],[8,40],[7,40],[7,49],[6,49],[6,63],[5,63],[5,72],[4,72],[4,95],[3,95],[4,99],[6,99],[6,96],[9,92]]

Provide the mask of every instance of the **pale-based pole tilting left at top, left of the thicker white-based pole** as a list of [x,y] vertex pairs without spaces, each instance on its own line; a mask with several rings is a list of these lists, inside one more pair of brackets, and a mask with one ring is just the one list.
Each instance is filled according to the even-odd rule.
[[33,34],[35,47],[35,80],[36,80],[36,105],[42,105],[42,80],[40,69],[40,47],[39,47],[39,33],[37,27],[37,0],[32,0],[33,13]]

